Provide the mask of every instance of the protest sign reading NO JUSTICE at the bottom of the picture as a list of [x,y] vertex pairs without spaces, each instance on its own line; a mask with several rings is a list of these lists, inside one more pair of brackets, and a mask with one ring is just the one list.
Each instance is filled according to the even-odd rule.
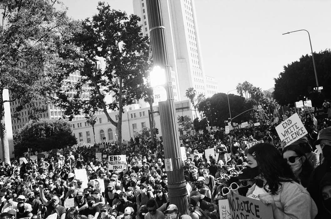
[[260,200],[240,196],[232,191],[227,196],[231,218],[273,218],[271,205],[265,205]]

